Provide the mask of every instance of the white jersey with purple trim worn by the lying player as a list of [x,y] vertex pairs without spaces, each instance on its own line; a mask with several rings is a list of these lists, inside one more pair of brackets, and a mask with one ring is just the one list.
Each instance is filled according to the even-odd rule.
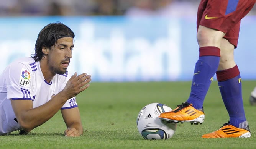
[[[8,65],[0,75],[0,135],[21,129],[10,99],[32,100],[33,108],[38,107],[62,91],[69,78],[66,71],[63,75],[55,75],[51,83],[47,83],[40,63],[30,57]],[[75,97],[67,100],[61,109],[74,107],[77,107]]]

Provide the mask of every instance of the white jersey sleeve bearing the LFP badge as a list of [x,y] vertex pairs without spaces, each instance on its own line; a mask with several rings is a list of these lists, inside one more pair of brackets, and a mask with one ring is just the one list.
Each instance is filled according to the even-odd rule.
[[14,62],[5,73],[7,99],[33,100],[31,97],[31,68],[21,62]]

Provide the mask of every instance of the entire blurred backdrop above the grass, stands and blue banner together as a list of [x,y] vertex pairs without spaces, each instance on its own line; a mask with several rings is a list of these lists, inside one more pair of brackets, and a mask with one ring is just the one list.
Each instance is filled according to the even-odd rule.
[[[186,81],[198,58],[200,0],[0,0],[0,71],[29,57],[39,31],[61,21],[76,35],[70,71],[93,81]],[[235,59],[256,79],[256,6],[242,20]],[[246,51],[246,52],[245,52]],[[248,54],[249,53],[249,54]]]

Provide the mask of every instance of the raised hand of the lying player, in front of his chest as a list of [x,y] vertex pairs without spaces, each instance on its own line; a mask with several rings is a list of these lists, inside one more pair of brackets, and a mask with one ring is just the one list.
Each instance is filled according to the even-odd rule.
[[87,73],[82,73],[77,76],[77,73],[71,76],[69,81],[67,81],[66,86],[64,87],[63,91],[68,96],[68,99],[76,96],[80,92],[87,89],[91,81],[91,75],[87,75]]

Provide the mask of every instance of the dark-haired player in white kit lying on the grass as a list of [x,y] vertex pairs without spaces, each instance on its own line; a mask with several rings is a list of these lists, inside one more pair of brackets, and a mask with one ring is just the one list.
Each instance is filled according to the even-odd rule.
[[74,32],[50,23],[38,34],[35,53],[12,62],[0,75],[0,135],[27,134],[61,110],[65,136],[80,136],[83,127],[75,96],[89,87],[91,76],[70,76]]

